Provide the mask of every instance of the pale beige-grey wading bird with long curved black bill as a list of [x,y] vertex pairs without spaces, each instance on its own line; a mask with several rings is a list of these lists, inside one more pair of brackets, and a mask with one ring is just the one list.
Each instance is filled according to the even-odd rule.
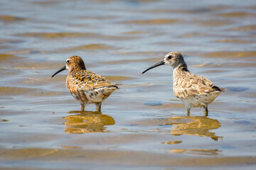
[[168,64],[174,69],[174,96],[180,98],[186,106],[187,115],[193,107],[203,107],[205,115],[208,115],[208,104],[224,89],[215,86],[212,81],[205,77],[192,74],[188,71],[188,66],[179,52],[169,52],[164,60],[146,69],[142,74],[164,64]]

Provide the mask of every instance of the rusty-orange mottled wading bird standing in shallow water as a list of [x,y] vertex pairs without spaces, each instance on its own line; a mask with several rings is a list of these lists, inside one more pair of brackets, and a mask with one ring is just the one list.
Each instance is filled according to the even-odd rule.
[[118,89],[118,85],[111,84],[105,77],[85,69],[85,63],[79,56],[72,56],[66,60],[64,67],[59,69],[52,77],[59,72],[68,69],[66,86],[70,94],[80,101],[81,111],[85,111],[88,103],[94,103],[96,111],[101,111],[102,101],[112,92]]

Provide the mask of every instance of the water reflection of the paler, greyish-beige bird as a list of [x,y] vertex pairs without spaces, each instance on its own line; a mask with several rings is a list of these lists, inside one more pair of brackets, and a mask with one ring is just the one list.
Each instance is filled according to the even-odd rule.
[[172,130],[170,130],[171,135],[196,135],[200,137],[211,137],[213,140],[223,138],[215,135],[215,132],[209,132],[209,130],[220,127],[218,120],[205,116],[186,116],[166,119],[167,123],[163,125],[173,125]]

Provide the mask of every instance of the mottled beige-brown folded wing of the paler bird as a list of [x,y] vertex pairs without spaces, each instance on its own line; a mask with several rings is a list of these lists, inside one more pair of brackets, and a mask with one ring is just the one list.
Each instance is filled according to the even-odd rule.
[[187,74],[183,79],[178,79],[174,84],[174,96],[177,98],[186,98],[201,94],[208,94],[220,89],[205,77],[196,74]]

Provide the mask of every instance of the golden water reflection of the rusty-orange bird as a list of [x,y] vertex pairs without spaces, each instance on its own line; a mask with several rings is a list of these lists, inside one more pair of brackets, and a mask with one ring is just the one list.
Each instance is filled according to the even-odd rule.
[[100,112],[92,111],[70,111],[68,113],[77,113],[65,117],[66,133],[91,133],[105,132],[106,125],[114,125],[114,119],[110,115],[104,115]]

